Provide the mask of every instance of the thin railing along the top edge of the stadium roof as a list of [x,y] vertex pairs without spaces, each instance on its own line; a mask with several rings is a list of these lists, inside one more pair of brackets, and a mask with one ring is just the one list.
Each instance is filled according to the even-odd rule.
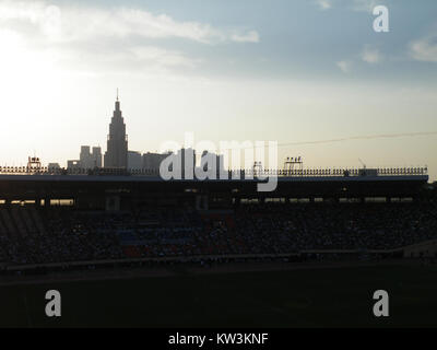
[[[262,176],[411,176],[427,175],[425,167],[379,167],[379,168],[304,168],[304,170],[239,170],[225,171],[228,178],[262,177]],[[126,168],[57,168],[57,167],[26,167],[0,166],[3,175],[125,175],[125,176],[160,176],[156,168],[126,170]],[[217,178],[220,178],[217,172]]]

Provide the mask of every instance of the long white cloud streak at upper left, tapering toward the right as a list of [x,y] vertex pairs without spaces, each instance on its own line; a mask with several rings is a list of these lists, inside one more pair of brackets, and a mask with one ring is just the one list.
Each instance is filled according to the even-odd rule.
[[218,30],[208,23],[180,22],[167,14],[153,14],[133,8],[57,7],[44,1],[1,1],[0,24],[32,25],[58,40],[95,37],[139,36],[144,38],[185,38],[203,44],[217,42],[257,43],[251,31]]

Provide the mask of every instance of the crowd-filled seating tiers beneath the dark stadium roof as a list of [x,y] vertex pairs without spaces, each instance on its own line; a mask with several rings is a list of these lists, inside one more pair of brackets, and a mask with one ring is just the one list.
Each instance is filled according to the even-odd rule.
[[0,218],[0,258],[10,265],[383,252],[437,238],[435,202],[258,203],[216,213],[190,208],[105,212],[13,206],[1,208]]

